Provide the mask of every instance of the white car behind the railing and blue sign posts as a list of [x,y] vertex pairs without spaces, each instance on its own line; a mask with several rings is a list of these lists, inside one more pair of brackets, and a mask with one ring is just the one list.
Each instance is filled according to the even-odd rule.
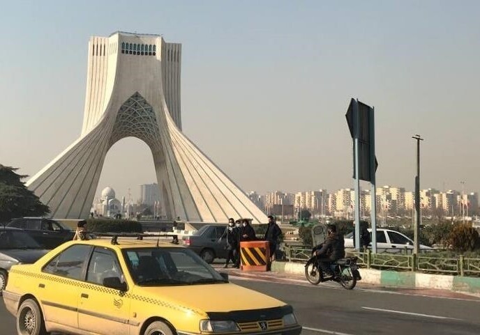
[[[372,229],[368,228],[370,237],[372,235]],[[353,233],[345,235],[345,248],[353,248]],[[391,231],[390,229],[378,228],[377,229],[377,252],[388,252],[391,254],[399,253],[406,249],[413,249],[413,241],[399,233],[398,231]],[[370,243],[370,247],[371,247]],[[420,244],[420,251],[428,251],[433,248]]]

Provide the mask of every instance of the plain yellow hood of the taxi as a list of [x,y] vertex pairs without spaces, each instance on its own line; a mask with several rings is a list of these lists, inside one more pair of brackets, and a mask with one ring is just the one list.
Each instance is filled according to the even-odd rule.
[[138,287],[145,295],[207,314],[251,309],[275,309],[284,302],[233,283]]

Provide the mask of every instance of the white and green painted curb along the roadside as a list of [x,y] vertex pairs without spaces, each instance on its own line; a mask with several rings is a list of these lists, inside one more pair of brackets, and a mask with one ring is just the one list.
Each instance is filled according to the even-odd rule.
[[[271,271],[304,275],[305,265],[303,263],[273,261]],[[361,283],[398,288],[435,288],[480,294],[480,278],[366,268],[360,268],[360,274]]]

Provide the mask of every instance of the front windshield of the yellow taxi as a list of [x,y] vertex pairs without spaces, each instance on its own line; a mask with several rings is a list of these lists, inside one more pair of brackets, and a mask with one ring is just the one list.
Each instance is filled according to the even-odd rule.
[[140,286],[227,283],[218,272],[189,249],[125,249],[123,256],[133,280]]

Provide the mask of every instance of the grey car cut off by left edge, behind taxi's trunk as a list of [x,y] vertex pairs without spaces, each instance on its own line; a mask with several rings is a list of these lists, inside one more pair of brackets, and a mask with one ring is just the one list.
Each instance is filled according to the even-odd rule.
[[8,281],[8,270],[15,264],[33,263],[48,250],[18,228],[0,228],[0,295]]

